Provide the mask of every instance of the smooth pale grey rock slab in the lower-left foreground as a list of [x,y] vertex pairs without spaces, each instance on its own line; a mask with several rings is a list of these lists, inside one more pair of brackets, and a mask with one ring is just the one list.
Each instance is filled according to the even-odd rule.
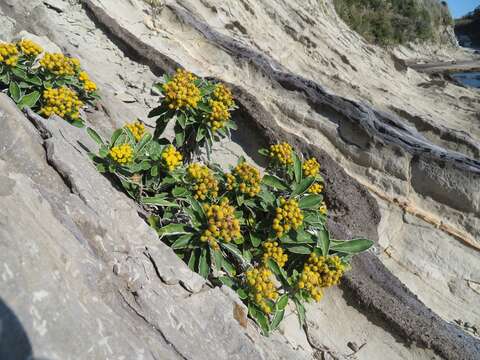
[[309,358],[239,324],[239,299],[191,272],[96,171],[84,129],[31,116],[36,127],[0,95],[2,360]]

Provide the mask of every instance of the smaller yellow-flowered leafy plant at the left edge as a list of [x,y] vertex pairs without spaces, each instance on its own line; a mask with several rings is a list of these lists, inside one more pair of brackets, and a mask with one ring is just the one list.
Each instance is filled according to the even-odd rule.
[[83,125],[80,110],[99,98],[78,59],[45,52],[29,39],[0,43],[0,91],[20,109],[57,115],[77,126]]

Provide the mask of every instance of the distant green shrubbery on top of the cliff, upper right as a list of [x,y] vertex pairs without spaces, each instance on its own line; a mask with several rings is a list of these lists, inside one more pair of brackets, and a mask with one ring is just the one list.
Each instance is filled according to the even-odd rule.
[[438,40],[440,27],[453,20],[444,1],[334,0],[338,15],[368,41],[404,44]]

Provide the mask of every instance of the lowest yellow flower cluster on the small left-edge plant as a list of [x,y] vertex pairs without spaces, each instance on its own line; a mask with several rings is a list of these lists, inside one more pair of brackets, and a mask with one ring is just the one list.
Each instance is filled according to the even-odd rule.
[[79,111],[83,106],[83,102],[79,100],[77,93],[66,86],[44,90],[43,103],[40,113],[46,117],[56,114],[63,119],[72,120],[80,117]]

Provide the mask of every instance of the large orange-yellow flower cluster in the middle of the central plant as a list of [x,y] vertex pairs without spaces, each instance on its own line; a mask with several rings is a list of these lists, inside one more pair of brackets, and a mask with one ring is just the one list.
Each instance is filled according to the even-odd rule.
[[219,205],[203,206],[208,219],[208,229],[200,237],[201,241],[208,242],[214,250],[218,250],[218,240],[230,242],[241,237],[240,221],[235,218],[235,208],[227,198],[223,198]]

